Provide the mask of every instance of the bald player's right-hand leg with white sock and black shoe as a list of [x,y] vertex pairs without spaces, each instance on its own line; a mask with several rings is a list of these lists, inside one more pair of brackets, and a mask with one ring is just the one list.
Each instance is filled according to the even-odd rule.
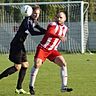
[[61,70],[60,70],[61,80],[62,80],[61,91],[65,91],[65,92],[72,91],[72,88],[67,87],[68,74],[67,74],[67,63],[66,63],[65,59],[58,51],[53,51],[51,56],[50,56],[51,59],[54,58],[53,59],[54,63],[56,63],[61,68]]

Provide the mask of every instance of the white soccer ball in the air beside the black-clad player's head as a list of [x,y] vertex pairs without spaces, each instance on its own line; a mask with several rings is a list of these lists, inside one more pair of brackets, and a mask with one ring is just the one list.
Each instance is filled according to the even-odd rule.
[[33,9],[29,5],[24,5],[21,7],[21,14],[23,16],[31,16],[32,12],[33,12]]

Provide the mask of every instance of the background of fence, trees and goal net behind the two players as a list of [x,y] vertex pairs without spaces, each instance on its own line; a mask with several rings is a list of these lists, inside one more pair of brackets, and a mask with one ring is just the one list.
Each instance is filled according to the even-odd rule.
[[[20,13],[20,6],[10,5],[10,3],[33,3],[35,2],[71,2],[73,0],[0,0],[0,53],[8,53],[10,42],[13,39],[20,23],[22,22],[22,15]],[[40,25],[47,27],[58,8],[63,8],[67,13],[66,25],[69,27],[68,41],[64,44],[61,43],[59,50],[70,53],[84,53],[96,52],[96,0],[83,0],[85,3],[81,13],[82,0],[74,0],[74,4],[45,4],[40,5],[42,12],[40,16]],[[9,5],[4,5],[7,3]],[[3,4],[3,5],[2,5]],[[32,5],[33,6],[33,5]],[[70,7],[68,7],[70,6]],[[87,12],[88,11],[88,12]],[[83,23],[81,22],[82,16]],[[83,27],[82,27],[83,24]],[[82,28],[81,28],[82,27]],[[82,33],[82,30],[84,33]],[[83,36],[83,35],[84,36]],[[83,40],[82,40],[83,36]],[[40,42],[42,36],[31,37],[25,42],[26,50],[28,52],[35,51],[37,44]]]

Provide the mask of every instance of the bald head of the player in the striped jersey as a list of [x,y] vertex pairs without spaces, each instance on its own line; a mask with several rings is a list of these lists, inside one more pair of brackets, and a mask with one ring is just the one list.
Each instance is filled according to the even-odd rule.
[[64,24],[64,22],[66,21],[66,15],[65,15],[65,13],[63,11],[57,12],[55,20],[59,24]]

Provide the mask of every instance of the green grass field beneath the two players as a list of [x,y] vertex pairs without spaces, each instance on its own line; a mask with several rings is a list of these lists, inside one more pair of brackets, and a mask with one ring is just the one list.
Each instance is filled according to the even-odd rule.
[[[96,54],[63,54],[68,63],[68,86],[70,93],[60,92],[59,67],[46,60],[39,70],[35,83],[35,96],[96,96]],[[0,55],[0,72],[12,65],[8,55]],[[28,91],[33,55],[28,55],[30,67],[24,80],[23,89]],[[18,73],[18,72],[17,72]],[[0,96],[18,96],[14,93],[18,74],[0,80]],[[25,96],[25,95],[19,95]],[[28,95],[26,95],[28,96]]]

